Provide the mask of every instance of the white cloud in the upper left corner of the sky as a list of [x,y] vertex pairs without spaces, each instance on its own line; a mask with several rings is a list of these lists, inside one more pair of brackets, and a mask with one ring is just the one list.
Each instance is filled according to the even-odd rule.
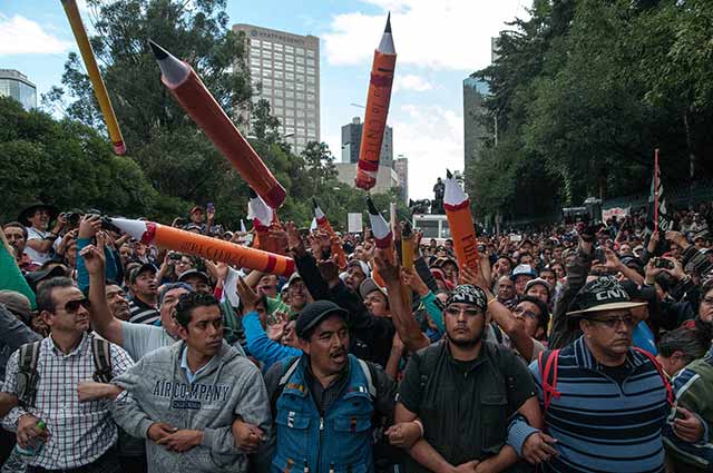
[[53,55],[65,52],[71,45],[45,32],[32,20],[19,14],[9,18],[0,13],[0,56]]

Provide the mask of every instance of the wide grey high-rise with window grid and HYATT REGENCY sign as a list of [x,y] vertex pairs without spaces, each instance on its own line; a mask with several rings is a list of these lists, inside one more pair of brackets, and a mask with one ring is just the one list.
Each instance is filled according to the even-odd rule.
[[285,140],[301,152],[320,140],[320,39],[252,24],[234,24],[248,41],[254,101],[266,99]]

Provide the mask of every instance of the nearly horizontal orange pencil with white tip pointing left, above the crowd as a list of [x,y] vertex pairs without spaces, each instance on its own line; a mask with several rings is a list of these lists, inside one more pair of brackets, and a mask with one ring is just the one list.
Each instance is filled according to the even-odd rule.
[[279,276],[290,276],[294,272],[294,260],[286,256],[261,252],[154,221],[113,218],[111,223],[145,245],[154,244],[162,248]]

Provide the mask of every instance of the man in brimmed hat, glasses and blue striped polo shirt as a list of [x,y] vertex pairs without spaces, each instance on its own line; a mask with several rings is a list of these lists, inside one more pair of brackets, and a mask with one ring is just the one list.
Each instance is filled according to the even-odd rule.
[[[583,335],[530,364],[545,428],[556,440],[557,455],[541,471],[664,471],[668,388],[653,355],[632,347],[645,305],[631,302],[614,277],[587,283],[567,313]],[[518,434],[521,441],[528,433]]]

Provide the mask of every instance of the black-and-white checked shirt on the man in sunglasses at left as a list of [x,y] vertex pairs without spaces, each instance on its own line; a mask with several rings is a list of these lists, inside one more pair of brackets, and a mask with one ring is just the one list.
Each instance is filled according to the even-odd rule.
[[[111,418],[109,401],[80,403],[77,385],[91,380],[96,371],[91,354],[91,337],[85,334],[69,354],[64,354],[51,339],[40,346],[35,407],[26,411],[14,407],[2,418],[2,426],[17,432],[18,420],[32,414],[45,421],[49,440],[29,464],[46,470],[68,470],[87,465],[101,456],[117,440],[117,427]],[[8,361],[2,392],[17,394],[18,353]],[[111,373],[118,376],[133,364],[129,355],[111,344]]]

